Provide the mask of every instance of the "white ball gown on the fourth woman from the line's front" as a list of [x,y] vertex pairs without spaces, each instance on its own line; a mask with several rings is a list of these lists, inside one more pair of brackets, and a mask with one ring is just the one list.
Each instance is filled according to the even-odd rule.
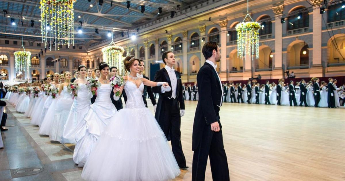
[[[72,94],[67,91],[67,86],[64,86],[55,105],[55,114],[53,114],[52,123],[49,130],[50,140],[61,141],[63,127],[67,121],[69,110],[71,109],[72,104]],[[49,110],[47,115],[48,113]]]

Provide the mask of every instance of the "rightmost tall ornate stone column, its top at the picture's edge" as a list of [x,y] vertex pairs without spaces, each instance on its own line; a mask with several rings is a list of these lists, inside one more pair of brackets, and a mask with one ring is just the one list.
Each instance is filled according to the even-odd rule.
[[[322,4],[323,0],[311,0],[313,6]],[[313,58],[309,59],[312,61],[312,68],[310,69],[311,77],[322,77],[322,14],[319,9],[313,10]],[[311,62],[309,62],[310,65]]]

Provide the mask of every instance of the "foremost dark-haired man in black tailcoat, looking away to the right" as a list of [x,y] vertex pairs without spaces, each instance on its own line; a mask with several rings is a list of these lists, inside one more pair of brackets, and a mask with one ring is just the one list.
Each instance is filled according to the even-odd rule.
[[230,180],[229,169],[219,117],[223,87],[216,72],[216,62],[220,61],[217,42],[205,43],[203,54],[206,61],[197,75],[199,101],[193,125],[192,181],[205,180],[208,157],[210,158],[212,179],[228,181]]

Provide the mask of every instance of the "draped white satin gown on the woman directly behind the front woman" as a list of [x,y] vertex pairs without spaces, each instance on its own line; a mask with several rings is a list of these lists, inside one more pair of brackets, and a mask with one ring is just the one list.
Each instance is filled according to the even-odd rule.
[[110,84],[102,84],[97,89],[96,101],[90,105],[90,110],[82,122],[83,127],[78,129],[78,133],[76,133],[76,137],[83,135],[77,141],[73,152],[73,161],[78,164],[78,167],[84,166],[102,132],[111,121],[117,119],[114,117],[117,109],[110,99],[111,91],[112,87]]

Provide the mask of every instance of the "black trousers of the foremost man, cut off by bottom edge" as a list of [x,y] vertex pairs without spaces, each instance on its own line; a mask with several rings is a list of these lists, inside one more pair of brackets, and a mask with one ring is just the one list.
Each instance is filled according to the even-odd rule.
[[194,151],[192,181],[204,181],[207,159],[210,157],[212,179],[214,181],[228,181],[229,168],[224,150],[223,133],[211,131],[211,125],[205,127],[203,135]]

